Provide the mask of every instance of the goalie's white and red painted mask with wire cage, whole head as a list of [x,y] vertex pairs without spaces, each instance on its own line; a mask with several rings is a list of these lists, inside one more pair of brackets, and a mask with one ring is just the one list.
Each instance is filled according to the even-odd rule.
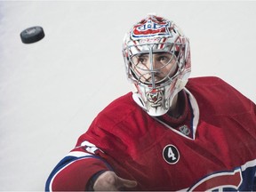
[[188,82],[188,38],[171,20],[149,15],[124,36],[123,55],[133,99],[148,115],[164,115]]

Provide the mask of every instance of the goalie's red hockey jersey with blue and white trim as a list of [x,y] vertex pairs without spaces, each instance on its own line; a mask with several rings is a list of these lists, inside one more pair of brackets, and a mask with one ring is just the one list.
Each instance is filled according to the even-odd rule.
[[129,190],[256,190],[256,107],[217,77],[190,78],[184,113],[148,116],[132,92],[93,120],[45,190],[85,190],[96,172],[136,180]]

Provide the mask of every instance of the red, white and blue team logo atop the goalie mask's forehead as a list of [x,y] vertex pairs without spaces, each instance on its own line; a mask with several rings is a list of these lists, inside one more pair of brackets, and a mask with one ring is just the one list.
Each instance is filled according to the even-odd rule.
[[170,21],[155,22],[147,20],[147,22],[135,25],[132,31],[133,38],[157,36],[171,36],[169,31]]

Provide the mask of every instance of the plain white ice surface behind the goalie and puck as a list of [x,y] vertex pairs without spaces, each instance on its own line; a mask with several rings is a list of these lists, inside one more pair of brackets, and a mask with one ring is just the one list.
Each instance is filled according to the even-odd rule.
[[[256,101],[256,2],[1,1],[0,190],[44,190],[92,119],[130,85],[124,33],[149,12],[190,38],[192,76],[220,76]],[[45,37],[22,44],[20,32]]]

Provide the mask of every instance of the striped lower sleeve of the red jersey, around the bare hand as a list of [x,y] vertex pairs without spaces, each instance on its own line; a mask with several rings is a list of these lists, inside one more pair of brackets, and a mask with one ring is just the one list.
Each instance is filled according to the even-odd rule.
[[[77,143],[78,144],[78,143]],[[97,172],[111,170],[100,157],[103,153],[89,141],[84,140],[71,150],[52,170],[46,181],[45,191],[84,191],[88,181]]]

